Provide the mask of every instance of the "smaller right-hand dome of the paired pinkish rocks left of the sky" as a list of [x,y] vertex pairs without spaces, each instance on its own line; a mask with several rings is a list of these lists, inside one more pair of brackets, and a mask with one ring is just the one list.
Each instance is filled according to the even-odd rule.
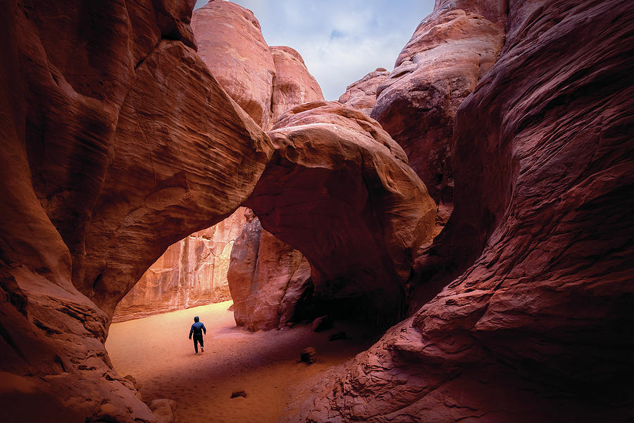
[[273,82],[273,119],[278,118],[299,104],[323,100],[323,93],[317,80],[306,69],[302,56],[290,47],[271,48],[275,63],[275,81]]

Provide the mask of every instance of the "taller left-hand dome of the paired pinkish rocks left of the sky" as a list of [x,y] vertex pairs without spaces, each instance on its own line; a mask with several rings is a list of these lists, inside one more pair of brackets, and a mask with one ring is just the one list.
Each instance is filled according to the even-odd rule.
[[275,63],[247,8],[211,0],[192,15],[198,52],[232,99],[262,128],[271,121]]

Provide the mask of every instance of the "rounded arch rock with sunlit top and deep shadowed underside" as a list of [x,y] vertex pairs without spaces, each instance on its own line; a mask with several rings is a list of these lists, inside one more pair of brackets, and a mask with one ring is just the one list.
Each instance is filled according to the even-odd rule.
[[435,216],[403,150],[373,119],[335,102],[297,106],[268,135],[275,154],[244,204],[305,255],[324,307],[384,323],[399,317]]

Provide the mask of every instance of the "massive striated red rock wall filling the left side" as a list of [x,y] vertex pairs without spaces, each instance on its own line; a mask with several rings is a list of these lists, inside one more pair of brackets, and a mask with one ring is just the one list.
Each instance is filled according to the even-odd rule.
[[192,48],[193,4],[0,6],[4,422],[156,421],[111,367],[113,309],[272,154]]

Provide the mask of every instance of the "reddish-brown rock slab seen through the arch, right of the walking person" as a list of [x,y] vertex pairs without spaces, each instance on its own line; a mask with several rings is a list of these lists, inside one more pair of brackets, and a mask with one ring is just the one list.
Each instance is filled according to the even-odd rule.
[[227,279],[238,326],[251,331],[277,329],[296,317],[311,287],[311,266],[301,252],[262,229],[247,209],[247,223],[235,240]]

